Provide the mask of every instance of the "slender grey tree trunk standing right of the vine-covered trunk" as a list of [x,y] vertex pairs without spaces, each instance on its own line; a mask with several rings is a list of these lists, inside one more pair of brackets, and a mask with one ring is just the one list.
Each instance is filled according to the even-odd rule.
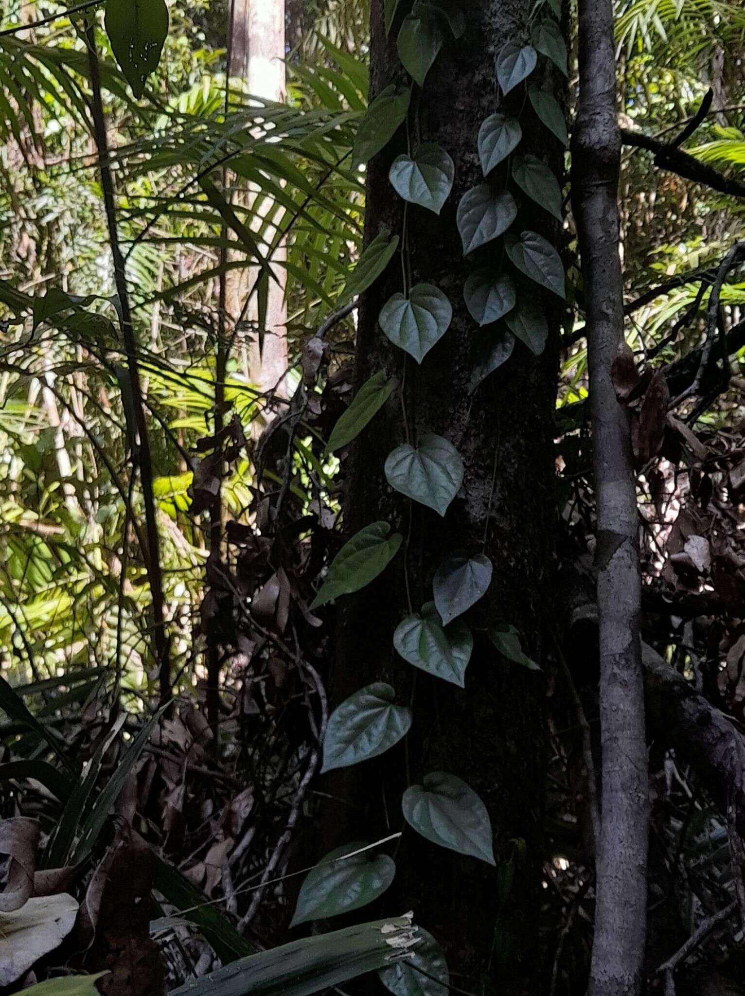
[[572,198],[582,256],[598,504],[603,744],[591,996],[641,991],[646,921],[647,761],[639,641],[638,515],[630,431],[612,370],[623,342],[613,4],[581,0],[580,104]]

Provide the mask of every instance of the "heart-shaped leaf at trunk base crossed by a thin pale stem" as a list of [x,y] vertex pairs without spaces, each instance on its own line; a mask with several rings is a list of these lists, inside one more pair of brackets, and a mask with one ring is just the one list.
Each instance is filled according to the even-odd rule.
[[291,927],[308,920],[339,916],[367,906],[382,895],[395,874],[395,864],[387,855],[371,857],[371,852],[345,859],[367,841],[354,841],[337,848],[324,858],[301,885]]

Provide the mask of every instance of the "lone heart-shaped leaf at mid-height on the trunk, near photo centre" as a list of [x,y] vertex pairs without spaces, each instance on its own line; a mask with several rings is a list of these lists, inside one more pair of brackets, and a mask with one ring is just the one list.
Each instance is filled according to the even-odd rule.
[[407,498],[444,515],[463,483],[463,461],[448,439],[428,433],[418,447],[404,443],[388,455],[385,480]]

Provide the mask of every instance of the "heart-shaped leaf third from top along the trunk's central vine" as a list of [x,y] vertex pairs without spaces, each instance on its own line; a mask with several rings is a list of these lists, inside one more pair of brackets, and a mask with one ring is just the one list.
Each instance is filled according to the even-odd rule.
[[402,294],[389,298],[377,322],[394,346],[420,364],[445,335],[452,316],[452,305],[439,288],[416,284],[407,298]]

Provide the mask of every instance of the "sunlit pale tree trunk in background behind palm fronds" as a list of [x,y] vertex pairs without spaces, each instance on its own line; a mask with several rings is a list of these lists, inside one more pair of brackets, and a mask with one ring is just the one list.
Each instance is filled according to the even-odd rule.
[[[285,99],[285,3],[284,0],[232,0],[230,75],[245,81],[248,93],[270,101]],[[248,197],[250,198],[251,193]],[[271,204],[267,205],[267,210]],[[266,216],[266,214],[264,214]],[[255,227],[255,226],[254,226]],[[266,247],[262,247],[266,251]],[[282,246],[272,261],[277,281],[270,281],[267,302],[264,348],[259,351],[258,335],[253,330],[258,321],[257,302],[249,303],[245,318],[251,323],[252,341],[245,354],[246,373],[262,391],[272,389],[288,368],[286,274],[282,263],[286,250]],[[227,311],[235,321],[243,311],[246,295],[256,280],[251,267],[245,272],[230,271],[227,282]],[[282,381],[278,393],[287,394]]]

